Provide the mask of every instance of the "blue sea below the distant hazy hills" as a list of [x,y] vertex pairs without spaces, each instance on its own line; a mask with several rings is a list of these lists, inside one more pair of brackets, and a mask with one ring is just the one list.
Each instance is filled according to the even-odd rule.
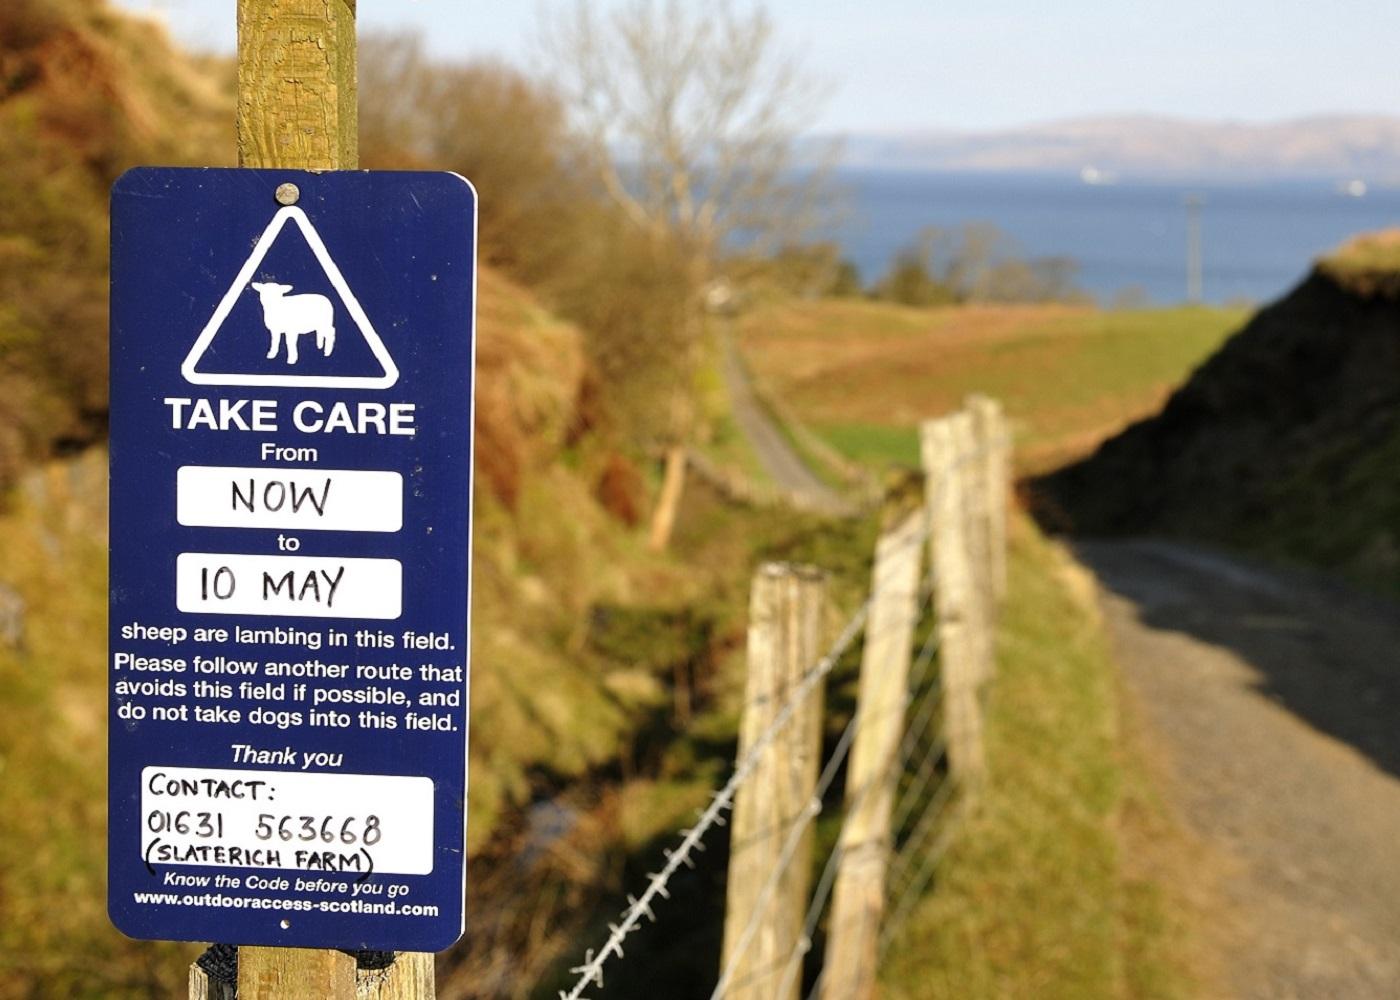
[[1330,181],[1085,183],[1078,176],[844,169],[834,232],[867,282],[924,227],[993,223],[1022,256],[1068,256],[1079,287],[1109,303],[1128,293],[1186,300],[1184,199],[1203,199],[1203,297],[1264,303],[1357,232],[1400,224],[1400,188],[1344,193]]

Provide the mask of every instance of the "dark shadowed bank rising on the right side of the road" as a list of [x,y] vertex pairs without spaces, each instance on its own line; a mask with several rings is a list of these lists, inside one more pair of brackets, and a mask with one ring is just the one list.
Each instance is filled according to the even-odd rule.
[[1394,588],[1393,244],[1364,239],[1323,261],[1203,364],[1158,416],[1037,480],[1042,521],[1077,534],[1210,539]]

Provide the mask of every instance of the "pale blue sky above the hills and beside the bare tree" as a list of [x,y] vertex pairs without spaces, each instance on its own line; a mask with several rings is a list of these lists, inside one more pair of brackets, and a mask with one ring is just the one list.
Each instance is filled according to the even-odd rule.
[[[235,0],[116,0],[231,50]],[[567,1],[567,0],[564,0]],[[615,0],[591,0],[606,6]],[[360,24],[526,69],[560,0],[360,0]],[[738,0],[743,3],[743,0]],[[1151,112],[1268,120],[1400,113],[1394,0],[770,0],[832,95],[819,130],[997,129]]]

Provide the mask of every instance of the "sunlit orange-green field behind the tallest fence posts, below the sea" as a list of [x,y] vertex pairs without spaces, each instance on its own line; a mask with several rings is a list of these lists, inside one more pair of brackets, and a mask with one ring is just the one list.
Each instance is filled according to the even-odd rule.
[[1155,412],[1245,315],[825,300],[763,307],[741,338],[766,388],[853,458],[916,464],[918,422],[986,392],[1016,422],[1022,468],[1042,469]]

